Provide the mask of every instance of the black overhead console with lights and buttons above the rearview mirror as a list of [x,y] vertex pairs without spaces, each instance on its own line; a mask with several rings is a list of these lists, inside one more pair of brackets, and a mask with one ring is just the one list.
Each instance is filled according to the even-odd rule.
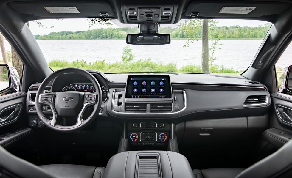
[[122,15],[129,24],[173,23],[177,13],[175,0],[122,2]]

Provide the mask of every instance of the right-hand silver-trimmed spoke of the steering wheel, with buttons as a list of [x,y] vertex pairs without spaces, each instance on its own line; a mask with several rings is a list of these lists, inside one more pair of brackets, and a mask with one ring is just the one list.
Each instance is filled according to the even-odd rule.
[[82,117],[83,117],[83,114],[84,114],[84,111],[86,110],[86,108],[88,106],[95,105],[97,102],[98,102],[98,94],[88,93],[88,92],[84,93],[83,107],[82,107],[80,113],[78,114],[76,126],[79,126],[82,124],[82,122],[83,122]]

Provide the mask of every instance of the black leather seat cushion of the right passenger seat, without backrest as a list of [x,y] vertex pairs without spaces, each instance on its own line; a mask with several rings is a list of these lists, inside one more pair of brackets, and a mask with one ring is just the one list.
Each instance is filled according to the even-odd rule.
[[194,169],[195,178],[234,178],[244,169],[239,168],[212,168]]

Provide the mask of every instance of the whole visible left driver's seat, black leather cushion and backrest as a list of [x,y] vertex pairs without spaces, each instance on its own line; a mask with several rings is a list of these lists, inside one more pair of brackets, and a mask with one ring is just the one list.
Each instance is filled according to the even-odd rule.
[[12,155],[0,146],[0,177],[101,178],[104,167],[51,164],[36,166]]

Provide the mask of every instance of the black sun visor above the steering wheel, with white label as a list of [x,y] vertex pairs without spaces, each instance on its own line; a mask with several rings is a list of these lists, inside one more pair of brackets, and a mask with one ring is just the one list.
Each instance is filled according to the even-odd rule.
[[21,14],[39,17],[113,17],[106,1],[16,1],[8,5]]

